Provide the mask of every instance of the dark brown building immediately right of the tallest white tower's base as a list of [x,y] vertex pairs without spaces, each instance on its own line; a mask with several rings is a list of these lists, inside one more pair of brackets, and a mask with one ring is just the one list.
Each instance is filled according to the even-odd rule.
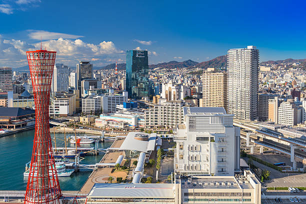
[[261,93],[258,95],[258,118],[259,121],[267,121],[269,118],[269,99],[274,99],[277,94]]

